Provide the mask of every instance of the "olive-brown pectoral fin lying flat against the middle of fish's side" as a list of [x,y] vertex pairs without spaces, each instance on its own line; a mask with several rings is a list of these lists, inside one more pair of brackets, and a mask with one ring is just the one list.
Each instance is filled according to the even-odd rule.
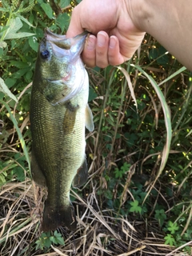
[[76,119],[78,106],[73,106],[70,102],[66,104],[66,114],[63,119],[63,131],[65,134],[74,130],[74,122]]

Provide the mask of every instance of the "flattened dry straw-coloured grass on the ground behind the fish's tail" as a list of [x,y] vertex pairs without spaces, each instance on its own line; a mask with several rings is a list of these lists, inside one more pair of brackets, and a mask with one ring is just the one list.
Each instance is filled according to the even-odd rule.
[[[91,182],[90,182],[91,183]],[[25,182],[11,182],[0,192],[0,252],[12,255],[187,255],[179,248],[166,246],[157,222],[114,218],[107,210],[100,210],[95,187],[86,198],[73,190],[76,198],[78,228],[70,233],[59,229],[65,246],[52,246],[49,252],[34,250],[34,242],[41,234],[40,222],[45,190],[35,186],[29,178]],[[190,244],[189,244],[190,245]],[[182,248],[181,248],[182,249]]]

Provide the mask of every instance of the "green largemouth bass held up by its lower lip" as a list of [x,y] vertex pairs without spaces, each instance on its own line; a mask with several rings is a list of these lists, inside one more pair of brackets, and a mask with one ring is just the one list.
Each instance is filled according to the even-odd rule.
[[59,226],[76,229],[70,188],[82,186],[88,177],[85,134],[86,128],[94,130],[94,122],[80,57],[86,37],[86,31],[66,38],[46,29],[38,48],[30,96],[30,169],[34,182],[47,187],[45,232]]

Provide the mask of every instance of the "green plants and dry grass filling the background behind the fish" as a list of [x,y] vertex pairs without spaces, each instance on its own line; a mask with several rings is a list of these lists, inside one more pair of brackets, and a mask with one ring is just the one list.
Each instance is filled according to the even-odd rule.
[[44,28],[65,34],[77,3],[0,2],[0,254],[191,255],[192,75],[148,34],[121,68],[87,69],[95,129],[89,179],[71,190],[78,229],[41,233],[31,82]]

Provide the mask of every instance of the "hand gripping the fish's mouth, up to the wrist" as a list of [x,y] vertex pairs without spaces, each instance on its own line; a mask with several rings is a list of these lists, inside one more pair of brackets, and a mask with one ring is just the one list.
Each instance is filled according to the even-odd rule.
[[82,52],[86,66],[119,65],[133,56],[145,33],[134,26],[129,9],[128,0],[83,0],[74,8],[66,37],[91,33]]

